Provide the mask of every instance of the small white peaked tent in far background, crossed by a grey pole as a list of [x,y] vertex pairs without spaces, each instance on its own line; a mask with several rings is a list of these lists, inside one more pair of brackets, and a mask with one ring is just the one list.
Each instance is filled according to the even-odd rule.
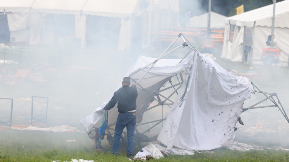
[[[211,28],[225,28],[225,19],[227,17],[211,11]],[[190,18],[189,27],[206,28],[208,24],[208,13],[193,16]]]

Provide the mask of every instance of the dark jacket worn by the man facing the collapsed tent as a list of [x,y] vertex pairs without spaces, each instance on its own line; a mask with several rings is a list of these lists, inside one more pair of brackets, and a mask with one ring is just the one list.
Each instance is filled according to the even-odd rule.
[[119,113],[135,110],[137,108],[136,99],[136,88],[122,86],[122,88],[114,92],[114,96],[112,96],[109,103],[104,106],[104,110],[110,110],[115,106],[116,102]]

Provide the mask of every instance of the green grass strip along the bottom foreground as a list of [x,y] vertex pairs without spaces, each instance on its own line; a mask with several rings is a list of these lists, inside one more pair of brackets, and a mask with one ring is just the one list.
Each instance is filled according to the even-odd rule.
[[[75,142],[66,142],[74,139]],[[140,148],[134,150],[135,153]],[[71,161],[73,159],[94,160],[95,162],[128,161],[125,153],[113,156],[109,152],[94,150],[94,143],[86,133],[54,133],[44,131],[1,130],[0,162],[50,162],[51,160]],[[251,150],[236,151],[218,149],[210,153],[196,152],[194,155],[171,155],[149,161],[289,161],[288,151]]]

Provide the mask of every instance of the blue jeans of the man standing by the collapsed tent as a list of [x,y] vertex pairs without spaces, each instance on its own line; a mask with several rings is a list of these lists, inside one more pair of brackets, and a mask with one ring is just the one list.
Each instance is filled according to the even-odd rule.
[[127,155],[133,156],[134,146],[134,127],[136,124],[135,113],[119,113],[115,124],[114,142],[112,146],[112,153],[116,154],[119,149],[119,142],[124,127],[127,127]]

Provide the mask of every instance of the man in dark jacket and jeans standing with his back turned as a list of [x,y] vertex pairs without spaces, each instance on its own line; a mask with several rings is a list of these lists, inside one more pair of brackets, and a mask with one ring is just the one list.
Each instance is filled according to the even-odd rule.
[[137,89],[129,87],[129,77],[122,80],[122,88],[114,92],[109,103],[104,106],[104,110],[110,110],[117,102],[119,115],[116,119],[115,133],[112,146],[112,153],[116,155],[119,149],[119,142],[124,127],[127,127],[127,156],[132,157],[134,144],[134,127],[136,124],[135,111],[137,108]]

